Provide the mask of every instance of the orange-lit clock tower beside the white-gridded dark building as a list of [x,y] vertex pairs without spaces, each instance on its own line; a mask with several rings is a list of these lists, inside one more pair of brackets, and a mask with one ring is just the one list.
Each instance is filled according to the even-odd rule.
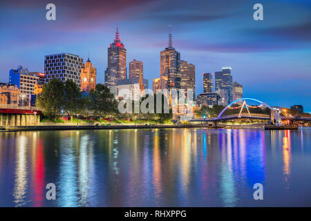
[[81,68],[81,91],[89,93],[91,89],[95,90],[96,86],[96,66],[94,66],[90,58]]

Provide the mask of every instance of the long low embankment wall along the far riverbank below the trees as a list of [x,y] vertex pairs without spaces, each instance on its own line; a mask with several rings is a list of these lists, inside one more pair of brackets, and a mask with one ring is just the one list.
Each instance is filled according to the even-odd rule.
[[[56,126],[6,126],[0,128],[1,131],[62,131],[62,130],[103,130],[103,129],[136,129],[136,128],[205,128],[208,127],[207,124],[158,124],[158,125],[81,125],[81,126],[66,126],[66,125],[56,125]],[[209,127],[209,128],[223,128],[219,127]]]

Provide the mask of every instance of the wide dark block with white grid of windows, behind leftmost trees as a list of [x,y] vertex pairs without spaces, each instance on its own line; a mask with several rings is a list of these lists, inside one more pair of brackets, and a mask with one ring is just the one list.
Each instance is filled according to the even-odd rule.
[[58,78],[61,81],[73,79],[80,88],[82,67],[83,59],[78,55],[70,53],[46,55],[44,59],[45,82],[48,83],[53,78]]

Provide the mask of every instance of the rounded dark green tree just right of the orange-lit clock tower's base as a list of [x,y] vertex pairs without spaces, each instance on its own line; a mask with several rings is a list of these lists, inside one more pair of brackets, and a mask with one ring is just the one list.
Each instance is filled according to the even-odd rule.
[[95,90],[88,94],[89,106],[94,115],[103,117],[108,113],[117,113],[117,102],[110,89],[104,84],[96,84]]

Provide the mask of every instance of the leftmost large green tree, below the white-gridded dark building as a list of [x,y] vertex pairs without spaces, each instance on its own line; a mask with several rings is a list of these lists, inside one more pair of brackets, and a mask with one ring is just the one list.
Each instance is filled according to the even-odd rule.
[[51,79],[48,84],[44,84],[42,93],[37,95],[36,106],[42,109],[44,115],[56,117],[65,104],[64,91],[64,82],[57,78]]

